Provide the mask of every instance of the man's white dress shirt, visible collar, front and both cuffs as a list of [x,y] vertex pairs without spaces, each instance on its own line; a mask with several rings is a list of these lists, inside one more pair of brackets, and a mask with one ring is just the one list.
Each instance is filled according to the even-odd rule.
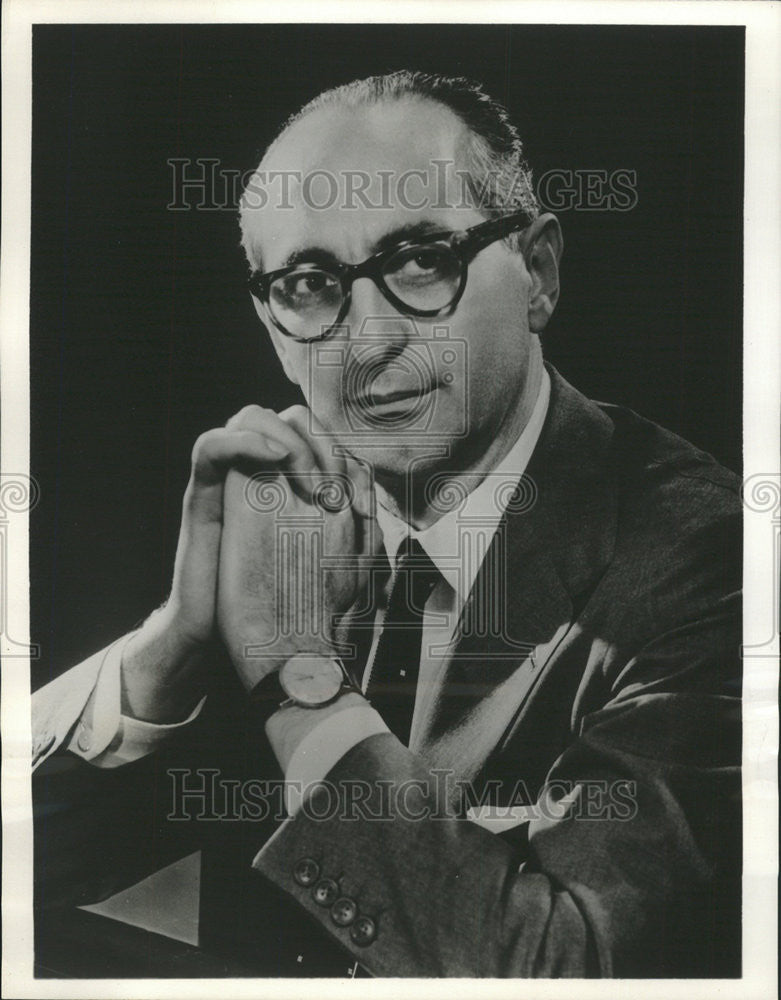
[[[391,566],[395,563],[401,543],[411,536],[418,540],[442,576],[424,609],[420,673],[410,733],[413,749],[432,707],[432,692],[447,667],[464,604],[539,439],[549,399],[550,378],[543,370],[532,415],[513,447],[471,493],[463,498],[451,494],[459,502],[430,527],[421,530],[411,528],[381,503],[377,505],[377,521]],[[447,497],[447,494],[444,496]],[[389,589],[390,585],[386,587],[377,609],[372,647],[363,677],[364,691],[371,676]],[[123,716],[119,680],[125,644],[126,641],[121,640],[109,650],[68,747],[98,767],[116,767],[150,753],[176,730],[192,722],[203,704],[201,702],[189,718],[173,725],[156,725]],[[348,713],[350,724],[346,725]],[[311,729],[293,752],[285,774],[288,812],[292,815],[300,808],[307,788],[322,781],[348,750],[369,736],[387,731],[379,713],[368,703],[365,707],[347,708],[344,712],[330,715]]]

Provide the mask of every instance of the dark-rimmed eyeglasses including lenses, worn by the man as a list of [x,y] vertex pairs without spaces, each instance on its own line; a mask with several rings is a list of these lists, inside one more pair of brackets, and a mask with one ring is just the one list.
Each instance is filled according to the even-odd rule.
[[342,322],[357,278],[371,278],[400,312],[441,316],[451,313],[464,294],[470,261],[531,222],[527,212],[515,212],[460,232],[406,240],[361,264],[293,264],[265,274],[254,271],[249,288],[279,332],[301,342],[324,340]]

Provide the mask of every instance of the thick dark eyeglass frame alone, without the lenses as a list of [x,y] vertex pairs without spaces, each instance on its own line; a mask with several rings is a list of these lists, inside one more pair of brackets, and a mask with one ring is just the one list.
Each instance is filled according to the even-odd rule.
[[[385,298],[392,306],[400,312],[411,316],[436,317],[452,313],[461,300],[466,290],[466,279],[469,274],[469,264],[491,243],[504,239],[515,230],[528,228],[534,221],[533,217],[526,211],[513,212],[511,215],[504,215],[499,219],[489,219],[487,222],[479,222],[469,229],[457,230],[455,232],[443,231],[441,233],[431,233],[416,240],[404,240],[385,250],[372,254],[360,264],[334,263],[325,267],[322,264],[290,264],[287,267],[280,267],[275,271],[253,271],[247,284],[250,293],[266,307],[266,313],[274,326],[280,333],[301,344],[316,343],[329,337],[332,331],[338,327],[350,309],[353,282],[358,278],[371,278],[380,289]],[[382,267],[387,260],[404,250],[414,247],[428,247],[432,243],[440,243],[452,251],[461,265],[461,279],[450,302],[440,309],[416,309],[407,305],[396,296],[385,282]],[[278,278],[283,278],[294,271],[306,274],[308,271],[327,271],[337,277],[342,286],[342,305],[333,323],[314,337],[299,337],[290,333],[279,322],[271,309],[269,295],[272,282]]]

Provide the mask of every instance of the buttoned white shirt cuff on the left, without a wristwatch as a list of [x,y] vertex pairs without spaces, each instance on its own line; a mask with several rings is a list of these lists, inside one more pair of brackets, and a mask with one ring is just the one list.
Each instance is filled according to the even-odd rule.
[[112,768],[140,760],[157,750],[200,714],[202,698],[183,722],[159,724],[122,715],[122,654],[130,632],[110,647],[92,694],[68,743],[68,750],[95,767]]

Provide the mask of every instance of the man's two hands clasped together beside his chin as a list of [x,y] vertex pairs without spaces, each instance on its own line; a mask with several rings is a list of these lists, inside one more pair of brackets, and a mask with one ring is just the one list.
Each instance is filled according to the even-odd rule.
[[171,594],[123,657],[123,711],[174,722],[205,689],[213,640],[247,690],[331,651],[378,544],[365,468],[303,406],[248,406],[198,438]]

